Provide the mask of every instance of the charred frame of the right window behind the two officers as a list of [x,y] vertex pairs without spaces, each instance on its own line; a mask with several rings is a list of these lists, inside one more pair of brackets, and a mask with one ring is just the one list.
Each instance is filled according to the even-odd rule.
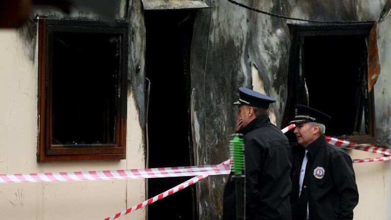
[[[290,100],[289,93],[296,94],[296,102],[305,103],[305,88],[304,88],[304,74],[300,74],[302,62],[304,60],[303,45],[304,38],[310,36],[365,36],[369,38],[369,33],[373,27],[373,22],[351,23],[351,24],[288,24],[291,33],[292,46],[289,53],[289,69],[288,69],[288,97],[283,116],[283,125],[287,125],[290,120]],[[367,54],[368,55],[368,54]],[[304,71],[304,70],[303,70]],[[367,70],[368,74],[368,70]],[[293,79],[295,78],[295,79]],[[293,87],[292,81],[299,82],[296,87]],[[346,139],[358,144],[375,143],[375,118],[374,118],[374,88],[368,93],[368,130],[366,135],[349,135],[338,136],[338,138]]]

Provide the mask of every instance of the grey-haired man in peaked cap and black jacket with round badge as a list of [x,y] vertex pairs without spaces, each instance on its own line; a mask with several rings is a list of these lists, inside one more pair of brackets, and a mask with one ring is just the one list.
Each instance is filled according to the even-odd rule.
[[358,191],[350,156],[326,142],[330,116],[295,106],[292,220],[352,220]]

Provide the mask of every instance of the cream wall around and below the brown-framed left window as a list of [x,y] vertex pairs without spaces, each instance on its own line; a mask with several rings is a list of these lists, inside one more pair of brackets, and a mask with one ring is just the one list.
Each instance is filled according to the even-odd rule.
[[[142,132],[128,93],[127,159],[37,162],[38,43],[31,61],[16,29],[0,29],[0,174],[144,168]],[[145,181],[0,184],[0,219],[105,219],[145,200]],[[122,219],[145,219],[145,209]]]

